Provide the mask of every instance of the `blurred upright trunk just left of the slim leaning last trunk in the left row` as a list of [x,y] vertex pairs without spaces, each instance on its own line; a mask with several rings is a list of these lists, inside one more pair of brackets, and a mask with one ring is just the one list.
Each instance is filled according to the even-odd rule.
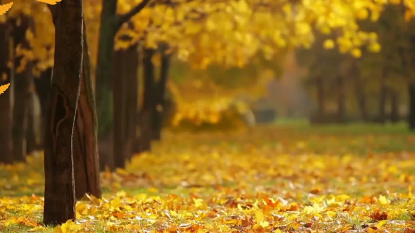
[[155,107],[154,65],[151,58],[154,50],[145,49],[143,54],[144,99],[140,116],[140,152],[151,150],[152,111]]

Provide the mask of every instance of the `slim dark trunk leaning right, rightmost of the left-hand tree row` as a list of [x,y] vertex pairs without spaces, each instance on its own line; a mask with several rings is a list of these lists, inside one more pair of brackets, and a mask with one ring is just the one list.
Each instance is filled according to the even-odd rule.
[[161,130],[163,127],[163,115],[165,112],[165,95],[166,95],[166,83],[169,76],[169,68],[171,55],[166,54],[167,48],[162,48],[161,66],[160,66],[160,79],[156,85],[156,100],[153,106],[152,116],[152,139],[161,139]]

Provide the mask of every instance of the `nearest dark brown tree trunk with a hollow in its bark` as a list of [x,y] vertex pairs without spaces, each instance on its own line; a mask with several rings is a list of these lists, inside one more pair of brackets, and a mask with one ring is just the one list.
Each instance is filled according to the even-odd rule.
[[72,135],[83,64],[82,10],[82,0],[64,0],[51,6],[55,64],[45,132],[45,225],[75,220]]

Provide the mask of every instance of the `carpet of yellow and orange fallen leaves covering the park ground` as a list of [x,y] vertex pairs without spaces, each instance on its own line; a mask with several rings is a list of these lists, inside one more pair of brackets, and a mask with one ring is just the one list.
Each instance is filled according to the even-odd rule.
[[415,135],[257,127],[166,133],[102,172],[75,223],[42,222],[41,154],[0,165],[0,232],[414,233]]

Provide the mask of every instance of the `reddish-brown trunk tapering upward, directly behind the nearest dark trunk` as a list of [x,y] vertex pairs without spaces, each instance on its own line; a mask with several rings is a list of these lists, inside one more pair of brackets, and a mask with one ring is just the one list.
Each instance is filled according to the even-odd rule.
[[78,200],[85,193],[97,198],[102,195],[99,183],[96,110],[85,24],[83,36],[82,78],[74,129],[75,195]]

